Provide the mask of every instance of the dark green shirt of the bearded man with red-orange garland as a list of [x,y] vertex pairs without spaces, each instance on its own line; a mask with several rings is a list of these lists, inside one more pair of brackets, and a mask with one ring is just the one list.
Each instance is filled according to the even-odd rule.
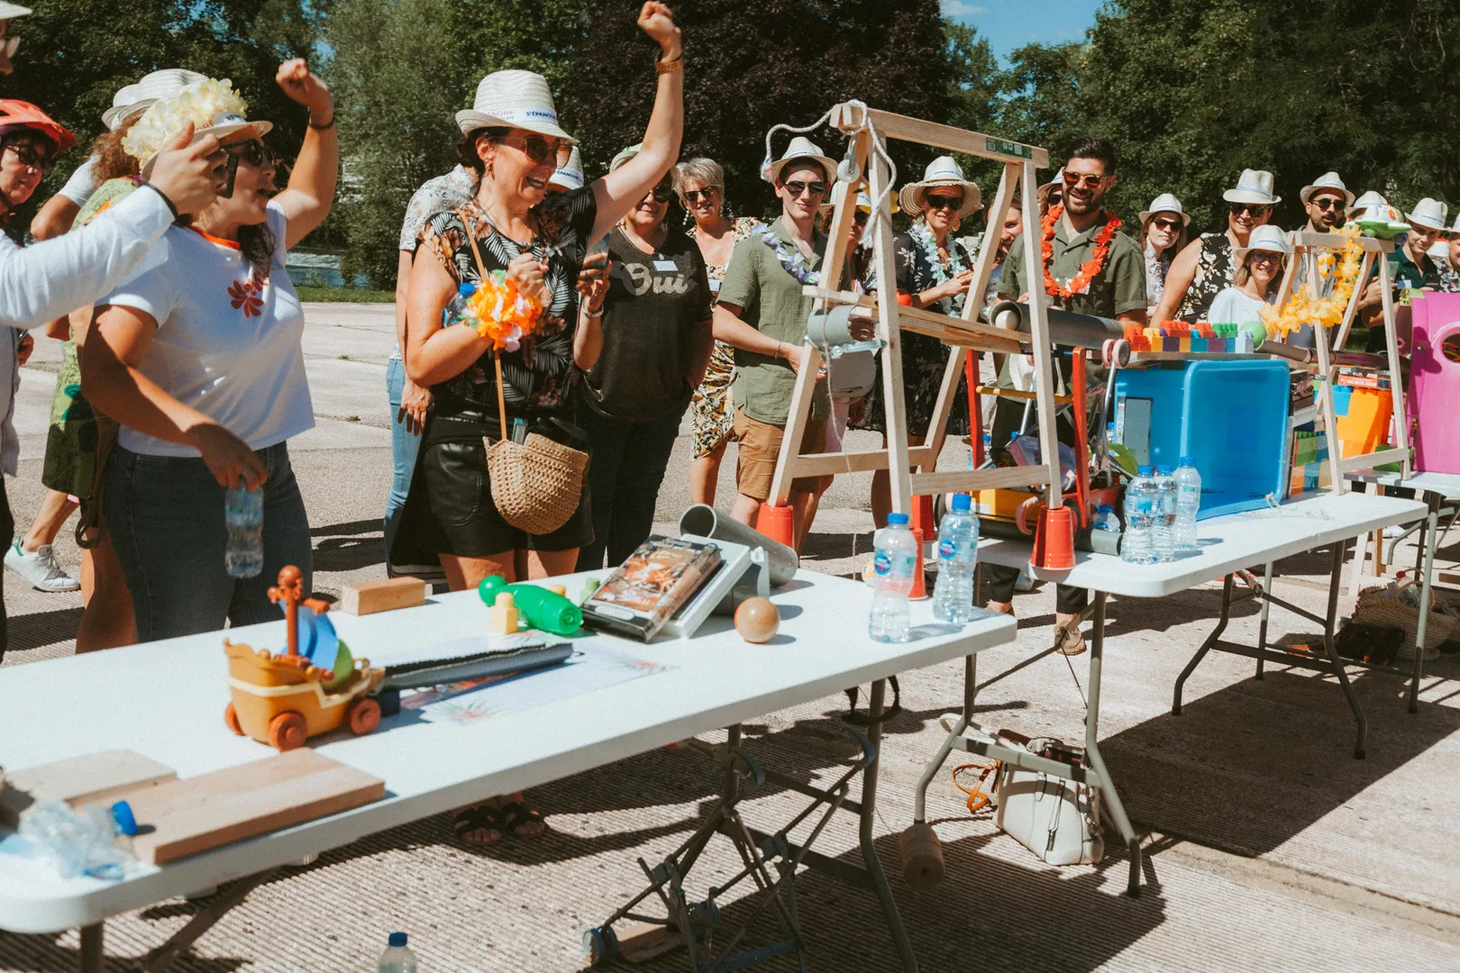
[[[1095,254],[1095,238],[1104,229],[1105,220],[1095,223],[1075,238],[1066,238],[1064,220],[1054,225],[1054,255],[1050,260],[1050,276],[1060,283],[1067,283],[1080,273]],[[1044,286],[1044,274],[1040,274],[1038,286]],[[999,296],[1018,301],[1019,295],[1029,290],[1029,276],[1023,270],[1023,233],[1013,241],[1009,255],[1004,257],[1002,279],[999,280]],[[1076,314],[1094,314],[1101,318],[1114,318],[1127,311],[1146,309],[1146,258],[1140,252],[1140,245],[1123,230],[1115,232],[1110,242],[1110,252],[1105,254],[1105,264],[1095,280],[1091,282],[1085,293],[1070,295],[1070,299],[1054,302]],[[1009,381],[1009,365],[1004,363],[999,375],[1000,388],[1013,388]]]

